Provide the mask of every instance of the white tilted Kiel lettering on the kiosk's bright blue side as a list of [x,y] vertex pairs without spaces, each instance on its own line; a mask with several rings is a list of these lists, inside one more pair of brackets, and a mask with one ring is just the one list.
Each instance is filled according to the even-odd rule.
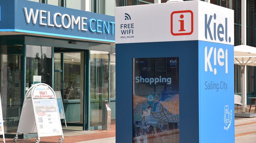
[[[213,56],[212,56],[213,52]],[[212,57],[213,57],[213,64],[212,64]],[[218,62],[217,62],[218,61]],[[219,66],[217,66],[217,63]],[[219,48],[217,51],[217,48],[210,47],[209,53],[207,46],[205,47],[205,72],[208,71],[208,67],[210,72],[213,72],[214,75],[217,74],[217,67],[224,66],[225,65],[225,73],[228,73],[228,49],[224,50],[222,48]],[[215,68],[214,68],[214,67]],[[214,68],[212,70],[212,67]]]

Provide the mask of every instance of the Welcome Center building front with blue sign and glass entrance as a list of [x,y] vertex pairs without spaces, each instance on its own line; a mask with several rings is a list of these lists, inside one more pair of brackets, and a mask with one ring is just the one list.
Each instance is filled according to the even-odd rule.
[[25,93],[38,81],[61,91],[67,125],[102,129],[104,100],[115,118],[114,5],[110,12],[92,2],[0,2],[5,133],[16,133]]

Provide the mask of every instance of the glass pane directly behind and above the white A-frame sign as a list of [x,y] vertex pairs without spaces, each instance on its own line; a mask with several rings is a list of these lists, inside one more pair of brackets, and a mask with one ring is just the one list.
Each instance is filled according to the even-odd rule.
[[51,47],[26,45],[26,90],[40,82],[51,86],[51,65]]

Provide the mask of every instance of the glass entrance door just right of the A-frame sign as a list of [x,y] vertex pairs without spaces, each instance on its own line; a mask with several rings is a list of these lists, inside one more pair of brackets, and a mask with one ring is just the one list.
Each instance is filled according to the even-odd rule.
[[55,53],[54,68],[54,89],[61,91],[66,121],[82,125],[84,53]]

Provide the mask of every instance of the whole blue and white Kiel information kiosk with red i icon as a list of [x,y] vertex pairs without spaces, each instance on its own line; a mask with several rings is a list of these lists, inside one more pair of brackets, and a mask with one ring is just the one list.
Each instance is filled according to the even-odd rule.
[[116,8],[117,143],[234,143],[233,13],[203,1]]

